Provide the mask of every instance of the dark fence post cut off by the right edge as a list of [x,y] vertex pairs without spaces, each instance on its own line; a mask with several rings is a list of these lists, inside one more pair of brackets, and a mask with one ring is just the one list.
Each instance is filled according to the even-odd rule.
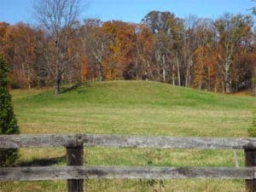
[[[256,149],[246,148],[244,150],[244,154],[245,154],[245,161],[246,161],[245,165],[256,166]],[[247,179],[246,188],[247,188],[247,192],[256,192],[256,179]]]

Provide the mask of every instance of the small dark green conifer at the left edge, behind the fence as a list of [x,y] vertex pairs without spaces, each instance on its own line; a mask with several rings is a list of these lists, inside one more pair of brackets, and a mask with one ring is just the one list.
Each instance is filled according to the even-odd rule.
[[[15,119],[14,108],[8,90],[8,67],[3,55],[0,55],[0,134],[20,133]],[[18,158],[18,149],[0,148],[0,166],[11,166]]]

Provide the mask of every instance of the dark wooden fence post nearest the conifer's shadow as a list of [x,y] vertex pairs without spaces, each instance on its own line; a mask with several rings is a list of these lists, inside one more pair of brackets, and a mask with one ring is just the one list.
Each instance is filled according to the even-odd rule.
[[[67,166],[83,166],[84,148],[82,136],[77,135],[76,146],[67,147]],[[84,192],[84,179],[67,179],[67,192]]]

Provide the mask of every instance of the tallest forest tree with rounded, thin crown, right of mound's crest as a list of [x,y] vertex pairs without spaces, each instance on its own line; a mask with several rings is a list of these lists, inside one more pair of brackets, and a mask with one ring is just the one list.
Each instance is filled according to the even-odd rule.
[[154,35],[153,60],[159,81],[170,81],[167,77],[172,73],[172,84],[175,84],[176,76],[177,84],[181,85],[183,20],[170,12],[151,11],[143,18],[143,24]]

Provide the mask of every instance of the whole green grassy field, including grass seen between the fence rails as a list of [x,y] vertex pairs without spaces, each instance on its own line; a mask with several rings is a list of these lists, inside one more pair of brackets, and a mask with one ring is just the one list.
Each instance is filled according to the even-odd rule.
[[[145,81],[83,84],[60,96],[52,90],[13,90],[22,133],[97,133],[180,137],[247,137],[256,98],[226,96]],[[89,166],[235,166],[231,150],[84,148]],[[237,151],[244,166],[242,151]],[[18,166],[60,166],[64,148],[22,148]],[[88,180],[87,191],[241,192],[241,180]],[[65,181],[0,183],[0,191],[65,191]]]

